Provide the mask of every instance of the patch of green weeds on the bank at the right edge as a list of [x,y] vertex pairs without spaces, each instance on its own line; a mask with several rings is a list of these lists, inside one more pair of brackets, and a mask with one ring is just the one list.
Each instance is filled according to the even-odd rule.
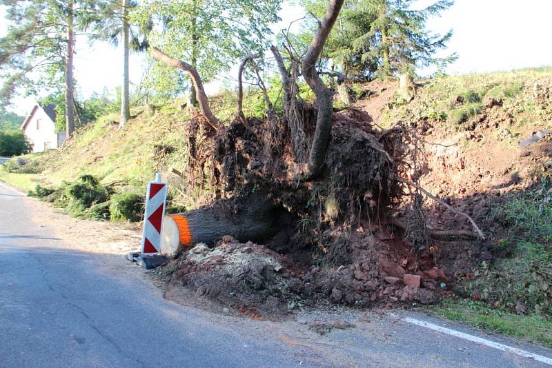
[[495,248],[501,258],[475,270],[466,292],[509,309],[552,316],[552,202],[546,198],[546,192],[535,192],[493,209],[509,238]]

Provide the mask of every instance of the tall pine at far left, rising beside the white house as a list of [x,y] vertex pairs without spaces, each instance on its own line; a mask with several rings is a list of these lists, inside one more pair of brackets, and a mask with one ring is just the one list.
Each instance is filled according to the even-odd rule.
[[[75,36],[90,17],[90,2],[74,0],[2,0],[8,32],[0,39],[0,72],[4,81],[2,105],[8,105],[18,86],[36,90],[65,81],[66,132],[75,130],[73,59]],[[30,78],[40,70],[41,79]]]

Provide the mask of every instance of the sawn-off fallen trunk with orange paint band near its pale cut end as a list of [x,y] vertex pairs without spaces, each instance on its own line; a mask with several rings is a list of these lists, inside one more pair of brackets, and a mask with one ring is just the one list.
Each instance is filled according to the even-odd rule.
[[271,201],[255,198],[237,213],[231,201],[219,201],[183,214],[165,216],[161,252],[175,254],[197,243],[214,245],[225,235],[242,243],[262,242],[279,229],[278,218],[282,209]]

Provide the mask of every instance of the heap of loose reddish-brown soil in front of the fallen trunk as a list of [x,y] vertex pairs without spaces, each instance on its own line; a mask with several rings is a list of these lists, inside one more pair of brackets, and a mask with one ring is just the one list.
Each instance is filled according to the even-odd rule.
[[394,237],[381,229],[357,232],[349,241],[352,264],[305,269],[264,245],[224,236],[214,248],[200,244],[172,260],[166,266],[175,269],[168,287],[186,287],[195,298],[255,318],[281,316],[296,307],[427,304],[440,298],[440,285],[449,277],[429,255],[397,258],[395,247],[378,238]]

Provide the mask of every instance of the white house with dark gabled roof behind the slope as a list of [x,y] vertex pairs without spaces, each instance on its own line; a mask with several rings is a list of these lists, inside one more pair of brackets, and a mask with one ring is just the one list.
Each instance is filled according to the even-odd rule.
[[56,132],[55,105],[34,105],[30,113],[23,121],[21,129],[32,142],[32,152],[44,152],[61,147],[66,139],[66,132]]

